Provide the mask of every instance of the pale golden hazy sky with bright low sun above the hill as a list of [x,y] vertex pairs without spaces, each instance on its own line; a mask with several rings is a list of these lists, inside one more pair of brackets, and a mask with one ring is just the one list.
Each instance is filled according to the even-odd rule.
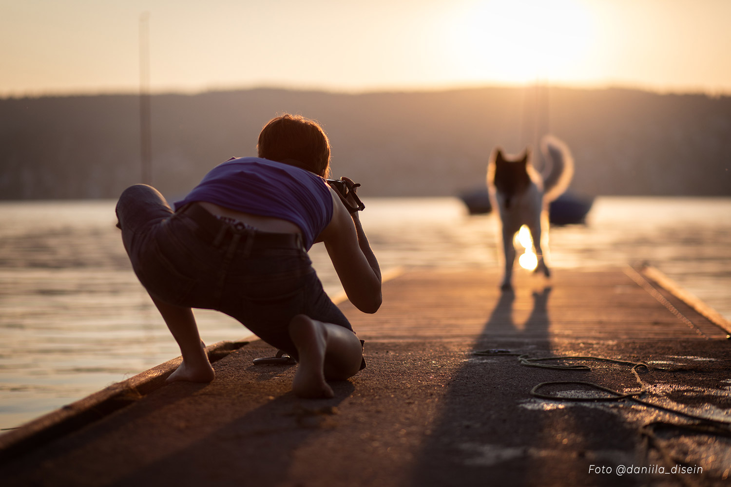
[[550,83],[731,93],[731,0],[0,0],[0,96]]

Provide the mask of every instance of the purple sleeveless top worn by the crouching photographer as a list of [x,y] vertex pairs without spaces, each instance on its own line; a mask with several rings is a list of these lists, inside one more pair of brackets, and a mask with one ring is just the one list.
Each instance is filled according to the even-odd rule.
[[232,158],[214,167],[188,196],[175,202],[175,210],[192,202],[295,223],[307,250],[333,218],[333,197],[322,177],[257,157]]

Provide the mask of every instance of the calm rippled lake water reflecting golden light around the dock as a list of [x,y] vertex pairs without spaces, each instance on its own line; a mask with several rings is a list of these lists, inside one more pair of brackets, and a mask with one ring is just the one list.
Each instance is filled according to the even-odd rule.
[[[137,282],[113,201],[0,203],[0,428],[12,428],[179,355]],[[370,199],[382,269],[498,265],[496,221],[450,198]],[[341,292],[322,244],[311,250]],[[731,318],[731,199],[597,199],[586,226],[551,231],[554,267],[648,261]],[[496,283],[497,284],[497,283]],[[206,343],[250,336],[198,311]]]

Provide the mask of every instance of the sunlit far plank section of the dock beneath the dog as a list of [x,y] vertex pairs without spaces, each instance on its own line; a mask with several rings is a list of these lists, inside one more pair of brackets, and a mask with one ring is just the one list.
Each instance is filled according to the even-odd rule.
[[385,283],[387,298],[375,315],[358,314],[349,303],[341,307],[365,340],[481,334],[526,340],[726,337],[726,331],[655,285],[692,326],[684,323],[633,276],[637,272],[630,267],[589,272],[555,269],[548,281],[519,272],[515,291],[501,293],[495,272],[413,271]]

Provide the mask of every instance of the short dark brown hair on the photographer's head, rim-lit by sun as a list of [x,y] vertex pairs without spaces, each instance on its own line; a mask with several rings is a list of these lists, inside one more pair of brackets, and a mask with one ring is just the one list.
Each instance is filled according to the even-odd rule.
[[319,123],[302,115],[285,113],[269,120],[259,134],[257,152],[270,161],[330,175],[330,141]]

